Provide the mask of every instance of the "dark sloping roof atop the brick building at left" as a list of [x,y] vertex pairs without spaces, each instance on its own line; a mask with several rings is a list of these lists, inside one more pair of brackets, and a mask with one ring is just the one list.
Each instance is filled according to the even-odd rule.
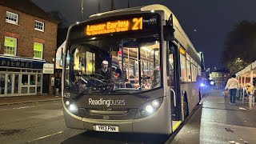
[[58,21],[52,18],[50,14],[47,14],[45,10],[42,10],[30,0],[0,0],[0,5],[10,7],[14,10],[19,10],[23,13],[48,20],[50,22],[58,23]]

